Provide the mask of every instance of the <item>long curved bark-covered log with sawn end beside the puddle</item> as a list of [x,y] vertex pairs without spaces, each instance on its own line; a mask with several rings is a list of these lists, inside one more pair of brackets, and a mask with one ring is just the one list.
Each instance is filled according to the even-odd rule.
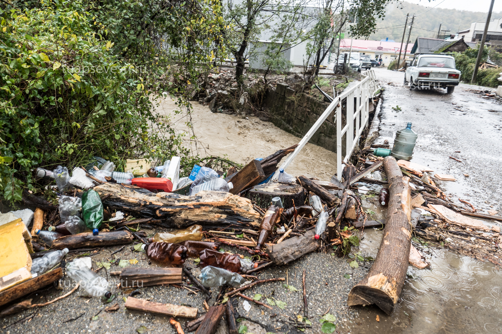
[[376,304],[391,314],[398,302],[406,277],[411,245],[411,205],[409,178],[403,177],[396,159],[384,159],[389,179],[389,209],[384,237],[366,277],[350,290],[347,304]]

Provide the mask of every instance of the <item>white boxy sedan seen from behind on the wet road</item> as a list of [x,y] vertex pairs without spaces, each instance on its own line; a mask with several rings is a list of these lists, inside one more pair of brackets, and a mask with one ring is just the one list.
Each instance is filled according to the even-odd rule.
[[409,83],[410,89],[446,88],[451,94],[460,82],[460,74],[452,56],[418,54],[406,69],[404,83]]

